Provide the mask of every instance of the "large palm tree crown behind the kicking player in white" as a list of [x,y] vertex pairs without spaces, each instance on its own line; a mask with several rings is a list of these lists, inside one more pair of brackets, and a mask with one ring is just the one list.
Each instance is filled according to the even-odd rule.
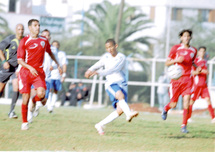
[[[85,54],[101,55],[104,53],[104,42],[108,38],[114,38],[117,16],[120,9],[120,5],[113,5],[108,1],[104,1],[100,4],[93,4],[90,9],[85,12],[83,20],[77,20],[73,23],[77,25],[84,24],[84,33],[82,34],[82,41],[88,47],[88,51]],[[130,7],[125,5],[123,10],[123,18],[119,36],[119,50],[124,54],[138,53],[146,55],[137,44],[143,44],[149,46],[149,37],[140,35],[139,37],[132,38],[136,33],[151,27],[150,21],[146,19],[146,15],[141,13],[141,10],[137,7]],[[92,48],[96,51],[89,51]]]

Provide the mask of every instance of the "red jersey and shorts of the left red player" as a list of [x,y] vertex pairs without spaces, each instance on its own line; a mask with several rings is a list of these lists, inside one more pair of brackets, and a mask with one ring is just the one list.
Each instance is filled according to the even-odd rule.
[[51,49],[48,40],[42,36],[32,38],[27,35],[21,40],[17,51],[17,59],[24,60],[38,72],[38,76],[33,76],[27,68],[21,68],[19,72],[19,90],[21,93],[30,93],[31,85],[35,89],[38,87],[46,89],[45,73],[43,71],[45,51],[50,53]]

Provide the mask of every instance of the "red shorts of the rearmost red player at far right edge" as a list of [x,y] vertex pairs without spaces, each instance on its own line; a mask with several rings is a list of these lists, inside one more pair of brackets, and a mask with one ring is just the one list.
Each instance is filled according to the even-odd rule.
[[191,99],[193,101],[196,101],[196,99],[198,99],[200,96],[202,98],[206,98],[206,97],[210,98],[210,94],[207,86],[196,86],[196,85],[194,86]]

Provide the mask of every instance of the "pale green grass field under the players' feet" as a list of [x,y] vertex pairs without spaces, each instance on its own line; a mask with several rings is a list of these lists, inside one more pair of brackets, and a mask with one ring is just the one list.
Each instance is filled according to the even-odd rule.
[[100,136],[94,125],[112,108],[57,108],[53,114],[42,108],[28,131],[20,130],[20,106],[16,107],[16,120],[7,117],[8,110],[8,105],[0,105],[1,151],[215,151],[215,124],[210,123],[209,115],[194,116],[189,134],[180,133],[181,115],[169,114],[162,121],[160,114],[141,112],[131,123],[122,115]]

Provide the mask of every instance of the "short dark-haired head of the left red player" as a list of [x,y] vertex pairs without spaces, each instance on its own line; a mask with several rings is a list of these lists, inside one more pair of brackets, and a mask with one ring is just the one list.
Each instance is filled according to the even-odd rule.
[[40,23],[37,19],[31,19],[28,21],[28,28],[31,36],[38,36],[40,33]]

